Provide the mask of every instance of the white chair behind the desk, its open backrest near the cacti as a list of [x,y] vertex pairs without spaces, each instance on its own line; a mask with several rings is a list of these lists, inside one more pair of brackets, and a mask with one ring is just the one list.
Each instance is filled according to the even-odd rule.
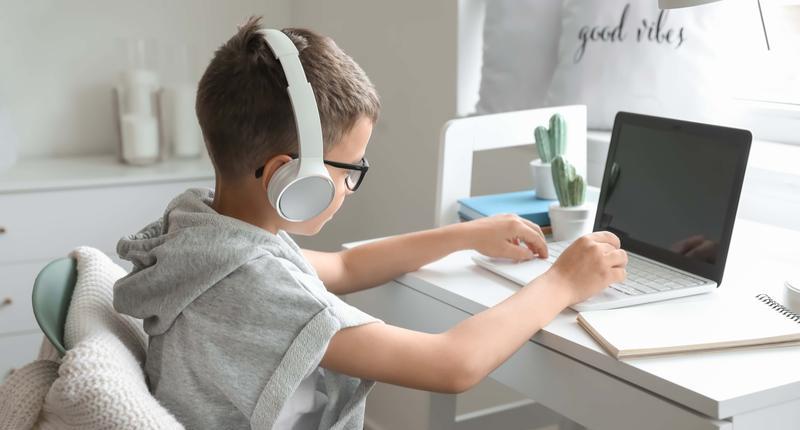
[[[459,118],[442,128],[436,189],[436,225],[458,222],[458,199],[470,196],[472,157],[476,151],[530,145],[533,130],[560,113],[567,123],[566,158],[586,177],[586,106],[558,106]],[[431,394],[430,429],[534,429],[556,425],[561,430],[583,427],[532,400],[456,415],[456,396]]]

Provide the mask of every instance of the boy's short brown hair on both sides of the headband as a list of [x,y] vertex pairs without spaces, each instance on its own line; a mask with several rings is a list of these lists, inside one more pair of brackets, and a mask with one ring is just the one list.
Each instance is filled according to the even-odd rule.
[[[297,153],[297,130],[286,77],[251,17],[214,53],[197,89],[195,109],[218,174],[251,175],[269,158]],[[361,67],[329,37],[282,30],[297,46],[314,90],[324,149],[338,143],[361,116],[374,123],[380,101]]]

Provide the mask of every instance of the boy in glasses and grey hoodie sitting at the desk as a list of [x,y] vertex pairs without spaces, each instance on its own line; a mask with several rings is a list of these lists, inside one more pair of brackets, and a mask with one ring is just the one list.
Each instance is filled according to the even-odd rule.
[[392,327],[341,301],[335,294],[381,285],[459,249],[546,257],[544,237],[504,215],[336,253],[299,249],[287,232],[317,233],[364,179],[379,102],[333,41],[284,30],[314,89],[335,195],[309,221],[282,219],[267,184],[298,152],[295,121],[281,65],[258,30],[258,19],[241,27],[199,84],[215,190],[184,192],[117,247],[134,270],[115,285],[114,305],[144,319],[151,391],[188,428],[360,429],[372,381],[467,390],[566,306],[623,280],[627,256],[603,232],[445,333]]

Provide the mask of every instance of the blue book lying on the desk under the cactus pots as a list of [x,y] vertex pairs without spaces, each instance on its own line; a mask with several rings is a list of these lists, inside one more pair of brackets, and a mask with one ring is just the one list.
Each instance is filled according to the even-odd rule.
[[503,213],[515,213],[540,226],[550,225],[548,210],[558,200],[536,197],[532,190],[459,199],[458,215],[463,220],[473,220]]

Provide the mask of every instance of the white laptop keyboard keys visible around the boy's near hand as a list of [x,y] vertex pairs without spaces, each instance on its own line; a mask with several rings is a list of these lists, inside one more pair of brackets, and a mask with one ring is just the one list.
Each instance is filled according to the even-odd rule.
[[[547,245],[549,256],[547,261],[553,263],[571,242],[553,242]],[[704,285],[707,281],[667,267],[653,264],[636,255],[628,254],[628,277],[624,282],[611,284],[611,288],[629,296],[659,293],[681,288]]]

